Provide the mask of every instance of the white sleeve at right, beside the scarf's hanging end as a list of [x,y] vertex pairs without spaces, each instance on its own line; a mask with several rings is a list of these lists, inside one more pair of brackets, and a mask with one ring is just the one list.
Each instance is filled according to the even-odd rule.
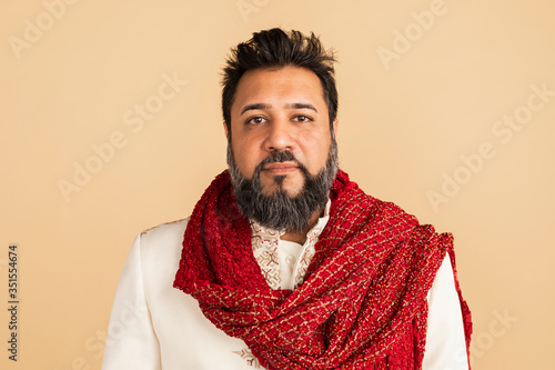
[[445,256],[428,292],[423,370],[467,370],[461,302],[450,256]]

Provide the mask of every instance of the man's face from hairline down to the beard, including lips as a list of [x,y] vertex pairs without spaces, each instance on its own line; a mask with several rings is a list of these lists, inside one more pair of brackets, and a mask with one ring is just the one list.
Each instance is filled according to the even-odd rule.
[[[256,167],[272,152],[289,151],[316,177],[332,144],[329,122],[322,83],[314,72],[299,67],[245,72],[231,106],[231,148],[239,171],[253,180]],[[260,169],[264,196],[282,189],[294,198],[304,183],[305,173],[294,160]]]

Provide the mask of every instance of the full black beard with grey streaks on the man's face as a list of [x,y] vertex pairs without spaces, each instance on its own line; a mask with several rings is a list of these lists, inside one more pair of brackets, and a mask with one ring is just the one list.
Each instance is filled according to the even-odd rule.
[[[278,189],[270,196],[262,191],[260,172],[273,162],[294,162],[302,171],[304,184],[299,194],[290,197],[283,189],[285,176],[275,176]],[[321,213],[327,202],[330,189],[339,168],[337,143],[332,137],[332,146],[327,161],[316,176],[311,176],[306,167],[297,161],[290,151],[274,151],[254,169],[252,180],[246,179],[239,170],[231,142],[228,142],[228,166],[230,169],[233,194],[239,210],[261,226],[296,233],[305,231],[314,213]]]

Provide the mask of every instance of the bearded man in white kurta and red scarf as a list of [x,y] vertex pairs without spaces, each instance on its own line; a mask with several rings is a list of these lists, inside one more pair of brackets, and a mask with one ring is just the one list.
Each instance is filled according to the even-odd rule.
[[451,236],[337,168],[333,62],[281,29],[233,49],[229,171],[135,239],[104,370],[468,368]]

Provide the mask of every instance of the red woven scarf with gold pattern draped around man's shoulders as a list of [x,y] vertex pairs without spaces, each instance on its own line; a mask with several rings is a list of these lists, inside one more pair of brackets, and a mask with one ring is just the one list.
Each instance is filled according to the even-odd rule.
[[[272,290],[222,172],[194,208],[173,286],[266,369],[420,369],[426,294],[452,236],[365,194],[341,170],[331,199],[304,282]],[[468,348],[470,311],[461,302]]]

